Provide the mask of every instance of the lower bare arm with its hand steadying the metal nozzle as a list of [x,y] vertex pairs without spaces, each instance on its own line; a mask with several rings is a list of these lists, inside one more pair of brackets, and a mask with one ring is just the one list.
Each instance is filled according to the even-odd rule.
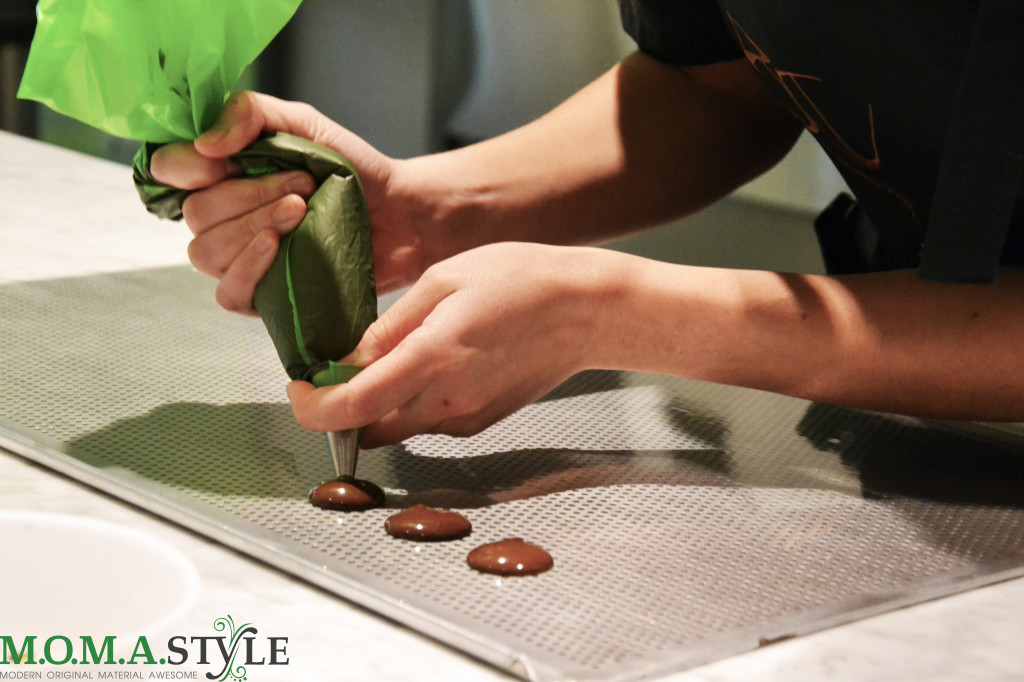
[[1024,421],[1024,272],[994,287],[673,265],[494,244],[431,267],[367,332],[344,386],[295,382],[307,428],[365,446],[467,435],[585,369],[655,372],[859,409]]

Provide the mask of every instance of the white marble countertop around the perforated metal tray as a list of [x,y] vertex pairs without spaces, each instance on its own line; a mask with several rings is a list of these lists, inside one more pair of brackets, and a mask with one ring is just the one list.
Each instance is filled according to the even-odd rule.
[[[0,133],[0,284],[183,263],[186,243],[184,226],[158,222],[143,211],[125,167]],[[0,509],[104,519],[142,529],[181,550],[199,570],[200,592],[179,624],[180,632],[212,634],[213,621],[230,613],[258,625],[263,633],[289,638],[289,665],[253,669],[253,682],[506,679],[187,528],[3,451]],[[54,560],[68,561],[69,570],[74,569],[73,559],[55,549]],[[16,552],[5,547],[0,561],[8,560],[16,560]],[[45,603],[45,595],[41,600]],[[1021,680],[1022,611],[1024,580],[1009,581],[664,679]]]

